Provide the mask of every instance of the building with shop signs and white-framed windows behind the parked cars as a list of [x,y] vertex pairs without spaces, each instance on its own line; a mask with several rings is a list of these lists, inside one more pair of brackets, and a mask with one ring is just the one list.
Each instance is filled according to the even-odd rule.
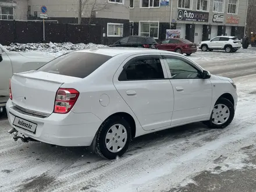
[[247,0],[131,0],[134,35],[165,39],[166,29],[198,43],[217,35],[243,38]]

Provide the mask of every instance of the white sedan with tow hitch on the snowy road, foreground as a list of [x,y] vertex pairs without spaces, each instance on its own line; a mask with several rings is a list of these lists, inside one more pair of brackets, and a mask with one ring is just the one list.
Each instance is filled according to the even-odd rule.
[[6,105],[21,138],[125,153],[134,137],[193,122],[224,128],[236,86],[174,52],[143,48],[74,51],[38,70],[14,74]]

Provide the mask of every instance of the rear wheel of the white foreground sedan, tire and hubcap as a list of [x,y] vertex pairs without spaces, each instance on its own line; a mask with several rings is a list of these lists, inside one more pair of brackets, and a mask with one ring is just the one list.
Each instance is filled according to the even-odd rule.
[[[115,159],[126,152],[130,141],[131,127],[129,123],[120,116],[113,116],[106,119],[99,127],[95,152],[102,158]],[[120,148],[122,149],[120,150]]]

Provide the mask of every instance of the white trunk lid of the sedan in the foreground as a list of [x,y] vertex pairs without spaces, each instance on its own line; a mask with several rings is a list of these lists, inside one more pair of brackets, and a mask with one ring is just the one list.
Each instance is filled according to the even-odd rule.
[[81,80],[78,77],[55,73],[30,71],[13,74],[10,81],[12,101],[20,108],[51,114],[55,97],[63,83]]

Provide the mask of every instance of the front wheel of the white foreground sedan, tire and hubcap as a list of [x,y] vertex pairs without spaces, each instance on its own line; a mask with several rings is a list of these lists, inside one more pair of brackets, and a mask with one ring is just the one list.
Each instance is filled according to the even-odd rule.
[[[224,116],[224,118],[221,118]],[[226,118],[226,119],[225,119]],[[211,118],[203,122],[212,129],[223,129],[234,119],[234,105],[229,99],[219,98],[212,109]]]

